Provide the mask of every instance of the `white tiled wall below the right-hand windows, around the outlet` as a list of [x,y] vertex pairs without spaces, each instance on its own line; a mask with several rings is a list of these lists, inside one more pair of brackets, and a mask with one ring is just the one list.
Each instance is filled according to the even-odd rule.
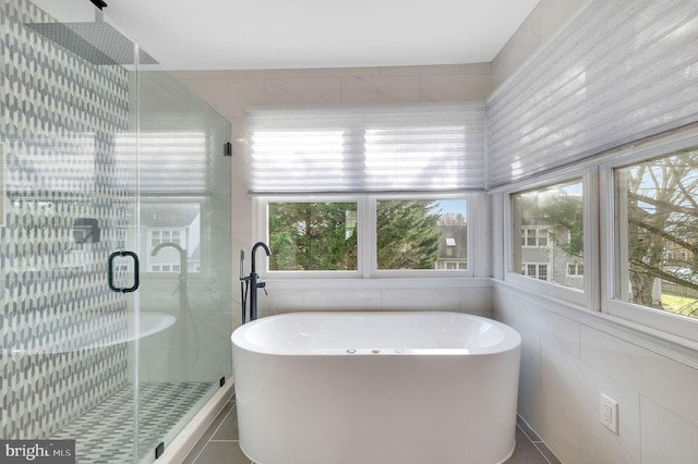
[[[696,463],[698,369],[579,309],[503,284],[493,296],[524,339],[519,413],[562,462]],[[618,403],[618,435],[600,422],[601,393]]]

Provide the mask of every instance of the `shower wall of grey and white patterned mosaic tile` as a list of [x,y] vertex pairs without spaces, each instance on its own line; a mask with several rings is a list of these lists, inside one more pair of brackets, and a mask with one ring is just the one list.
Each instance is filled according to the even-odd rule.
[[[107,289],[104,262],[127,225],[115,141],[128,131],[129,76],[120,66],[92,65],[25,26],[49,21],[28,0],[0,0],[0,144],[9,197],[0,227],[4,439],[47,436],[128,381],[125,345],[61,346],[110,343],[125,330],[125,302]],[[76,245],[79,218],[97,220],[98,243]]]

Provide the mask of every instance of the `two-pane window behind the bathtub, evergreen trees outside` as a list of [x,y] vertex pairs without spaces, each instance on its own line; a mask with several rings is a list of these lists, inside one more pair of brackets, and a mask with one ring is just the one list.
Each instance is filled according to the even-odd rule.
[[272,272],[371,277],[406,271],[462,276],[468,270],[464,198],[366,195],[261,202]]

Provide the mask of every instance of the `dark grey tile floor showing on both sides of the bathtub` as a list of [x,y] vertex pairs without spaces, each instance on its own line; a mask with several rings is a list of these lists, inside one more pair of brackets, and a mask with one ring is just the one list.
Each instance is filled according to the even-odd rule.
[[[238,444],[238,416],[234,399],[226,404],[183,464],[254,464]],[[430,464],[430,463],[424,463]],[[459,463],[460,464],[460,463]],[[505,464],[561,464],[545,443],[520,422],[516,430],[516,450]]]

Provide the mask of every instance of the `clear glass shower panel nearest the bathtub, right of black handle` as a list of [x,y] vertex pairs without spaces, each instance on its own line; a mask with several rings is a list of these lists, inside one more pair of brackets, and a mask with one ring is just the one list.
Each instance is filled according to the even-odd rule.
[[140,307],[176,319],[139,346],[141,440],[155,450],[231,375],[230,123],[167,73],[137,77]]

